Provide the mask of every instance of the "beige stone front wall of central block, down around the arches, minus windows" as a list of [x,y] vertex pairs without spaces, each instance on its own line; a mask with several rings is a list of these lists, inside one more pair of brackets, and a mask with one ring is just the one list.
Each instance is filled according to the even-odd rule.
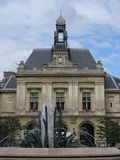
[[[90,122],[96,129],[97,119],[105,116],[104,77],[63,77],[63,76],[18,76],[16,114],[26,125],[37,120],[37,112],[30,111],[29,95],[31,90],[39,91],[39,107],[56,106],[56,92],[65,92],[64,124],[69,131],[79,129],[83,122]],[[91,110],[82,110],[82,92],[91,92]],[[22,93],[22,94],[21,94]],[[95,131],[96,134],[96,131]]]

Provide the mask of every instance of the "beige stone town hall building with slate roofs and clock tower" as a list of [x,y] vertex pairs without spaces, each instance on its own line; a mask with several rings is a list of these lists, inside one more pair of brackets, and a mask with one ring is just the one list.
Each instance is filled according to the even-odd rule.
[[34,49],[17,73],[5,72],[0,83],[0,115],[18,116],[32,128],[43,106],[62,108],[69,131],[85,128],[96,137],[97,120],[120,119],[120,78],[104,71],[88,49],[69,48],[66,23],[56,21],[54,45]]

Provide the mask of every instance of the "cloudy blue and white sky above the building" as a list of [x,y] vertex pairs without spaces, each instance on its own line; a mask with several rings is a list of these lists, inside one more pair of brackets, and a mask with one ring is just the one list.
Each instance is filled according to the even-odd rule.
[[120,77],[120,0],[0,0],[0,79],[34,48],[52,47],[60,10],[69,47],[88,48]]

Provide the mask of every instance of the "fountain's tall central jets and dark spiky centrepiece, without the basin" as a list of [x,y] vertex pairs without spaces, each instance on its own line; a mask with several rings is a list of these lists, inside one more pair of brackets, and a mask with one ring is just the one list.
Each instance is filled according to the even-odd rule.
[[[67,130],[62,124],[62,110],[55,108],[53,113],[52,107],[45,106],[43,111],[39,112],[39,127],[31,130],[20,141],[20,147],[80,147],[80,140],[74,140],[76,133],[68,135]],[[73,141],[74,140],[74,141]],[[79,141],[79,142],[78,142]]]

